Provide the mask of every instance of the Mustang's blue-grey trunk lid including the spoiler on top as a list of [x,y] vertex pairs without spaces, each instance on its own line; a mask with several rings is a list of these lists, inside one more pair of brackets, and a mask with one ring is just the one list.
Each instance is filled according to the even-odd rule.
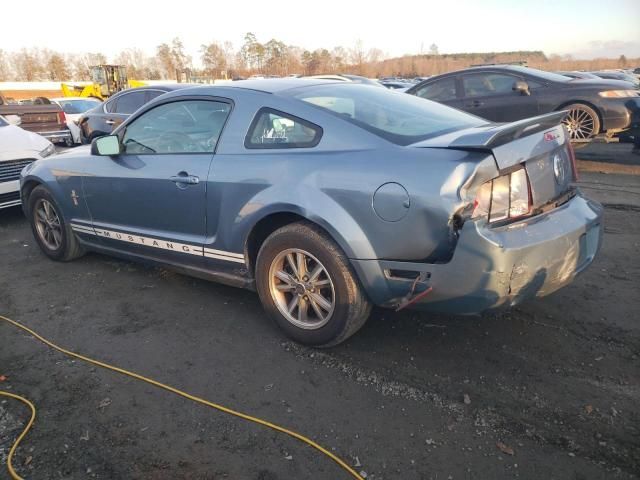
[[554,112],[512,123],[473,127],[411,147],[490,152],[501,173],[522,165],[536,208],[562,195],[574,180],[569,137],[561,125],[565,114]]

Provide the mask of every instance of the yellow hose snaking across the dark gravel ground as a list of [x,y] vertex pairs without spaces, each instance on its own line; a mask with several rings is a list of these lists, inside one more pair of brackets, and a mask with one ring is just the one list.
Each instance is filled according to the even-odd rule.
[[[171,393],[175,393],[176,395],[184,397],[184,398],[186,398],[188,400],[191,400],[193,402],[200,403],[202,405],[206,405],[207,407],[211,407],[211,408],[213,408],[215,410],[219,410],[221,412],[228,413],[229,415],[233,415],[234,417],[242,418],[243,420],[247,420],[249,422],[257,423],[258,425],[262,425],[264,427],[271,428],[272,430],[276,430],[277,432],[289,435],[290,437],[293,437],[296,440],[299,440],[300,442],[309,445],[310,447],[316,449],[317,451],[319,451],[323,455],[329,457],[331,460],[336,462],[343,470],[345,470],[347,473],[349,473],[353,478],[355,478],[357,480],[363,480],[363,478],[360,476],[360,474],[358,472],[356,472],[353,468],[351,468],[340,457],[338,457],[337,455],[334,455],[333,453],[331,453],[326,448],[322,447],[321,445],[319,445],[318,443],[314,442],[310,438],[305,437],[304,435],[301,435],[300,433],[294,432],[293,430],[289,430],[287,428],[281,427],[280,425],[276,425],[275,423],[268,422],[268,421],[263,420],[261,418],[254,417],[254,416],[251,416],[251,415],[247,415],[246,413],[238,412],[236,410],[233,410],[231,408],[225,407],[223,405],[219,405],[217,403],[210,402],[208,400],[205,400],[204,398],[196,397],[195,395],[191,395],[189,393],[183,392],[182,390],[179,390],[177,388],[171,387],[171,386],[166,385],[164,383],[160,383],[160,382],[158,382],[156,380],[153,380],[151,378],[147,378],[147,377],[145,377],[143,375],[140,375],[138,373],[130,372],[129,370],[125,370],[124,368],[115,367],[113,365],[109,365],[108,363],[100,362],[98,360],[94,360],[92,358],[85,357],[84,355],[80,355],[78,353],[72,352],[70,350],[67,350],[65,348],[62,348],[62,347],[56,345],[55,343],[47,340],[46,338],[44,338],[43,336],[39,335],[35,331],[31,330],[29,327],[25,327],[24,325],[16,322],[15,320],[11,320],[10,318],[7,318],[7,317],[4,317],[4,316],[0,315],[0,320],[4,320],[5,322],[13,325],[14,327],[17,327],[20,330],[23,330],[23,331],[27,332],[29,335],[31,335],[32,337],[36,338],[37,340],[40,340],[42,343],[44,343],[48,347],[51,347],[54,350],[57,350],[58,352],[64,353],[65,355],[68,355],[70,357],[77,358],[78,360],[82,360],[83,362],[87,362],[87,363],[90,363],[92,365],[96,365],[98,367],[106,368],[107,370],[111,370],[113,372],[121,373],[122,375],[126,375],[128,377],[135,378],[136,380],[141,380],[141,381],[143,381],[145,383],[153,385],[154,387],[162,388],[163,390],[167,390],[167,391],[169,391]],[[21,402],[25,403],[26,405],[28,405],[31,408],[31,419],[29,420],[29,423],[27,424],[25,429],[22,431],[22,433],[20,434],[20,436],[18,437],[16,442],[11,447],[11,450],[9,452],[9,456],[7,457],[7,468],[9,469],[9,474],[11,475],[11,478],[14,479],[14,480],[23,480],[22,477],[20,477],[15,472],[15,470],[13,468],[13,465],[12,465],[13,454],[15,453],[15,451],[16,451],[18,445],[20,444],[20,442],[22,441],[22,439],[25,437],[25,435],[27,434],[27,432],[29,431],[29,429],[33,425],[33,422],[34,422],[35,417],[36,417],[36,409],[33,406],[33,404],[29,400],[27,400],[26,398],[20,397],[18,395],[14,395],[12,393],[3,392],[3,391],[0,391],[0,395],[4,395],[4,396],[7,396],[7,397],[11,397],[11,398],[20,400]]]

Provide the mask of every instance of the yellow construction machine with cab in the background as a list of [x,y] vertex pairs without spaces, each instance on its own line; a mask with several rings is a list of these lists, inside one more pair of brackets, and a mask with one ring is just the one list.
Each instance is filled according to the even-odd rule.
[[145,85],[139,80],[127,80],[127,67],[124,65],[96,65],[91,67],[89,85],[61,83],[62,95],[65,97],[94,97],[100,100],[109,98],[126,88]]

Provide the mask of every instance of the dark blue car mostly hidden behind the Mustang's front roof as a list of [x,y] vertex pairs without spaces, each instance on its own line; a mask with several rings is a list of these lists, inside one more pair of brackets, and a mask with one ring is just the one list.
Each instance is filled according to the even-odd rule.
[[179,88],[193,87],[188,83],[174,85],[154,85],[130,88],[118,92],[106,102],[85,112],[78,119],[82,143],[91,143],[94,138],[109,135],[129,115],[150,100]]

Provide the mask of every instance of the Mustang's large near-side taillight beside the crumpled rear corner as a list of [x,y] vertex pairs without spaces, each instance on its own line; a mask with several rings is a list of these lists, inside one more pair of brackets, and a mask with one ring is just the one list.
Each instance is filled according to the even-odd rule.
[[531,212],[529,178],[524,168],[483,184],[478,190],[472,217],[489,222],[515,219]]

